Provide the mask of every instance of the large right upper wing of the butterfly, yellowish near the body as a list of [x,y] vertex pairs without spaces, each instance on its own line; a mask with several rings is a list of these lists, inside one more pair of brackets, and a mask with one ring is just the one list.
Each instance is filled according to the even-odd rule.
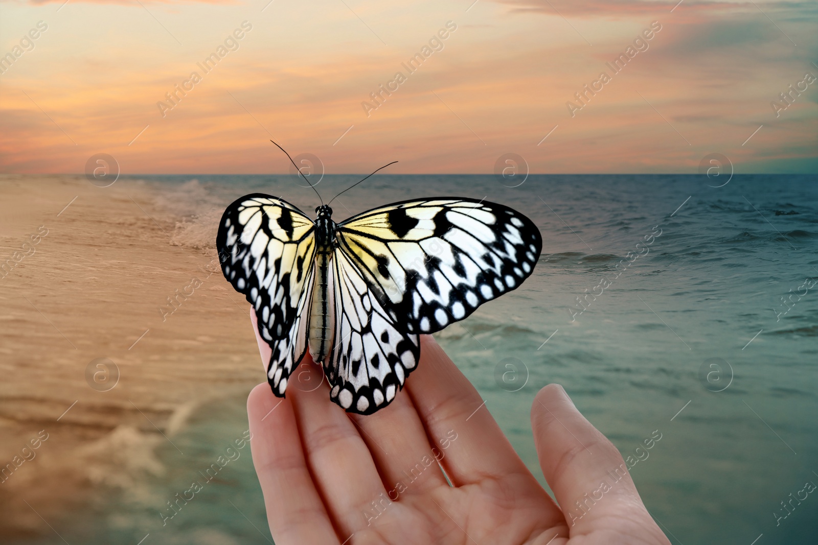
[[335,236],[393,323],[415,334],[439,331],[519,287],[542,250],[528,217],[463,198],[375,208],[339,224]]

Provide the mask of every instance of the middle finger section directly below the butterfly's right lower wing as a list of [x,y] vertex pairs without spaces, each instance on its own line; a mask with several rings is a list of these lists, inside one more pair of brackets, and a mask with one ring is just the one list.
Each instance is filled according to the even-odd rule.
[[396,501],[402,494],[421,494],[447,486],[438,467],[444,451],[439,445],[429,444],[409,395],[398,394],[377,413],[349,417],[369,446],[389,499]]

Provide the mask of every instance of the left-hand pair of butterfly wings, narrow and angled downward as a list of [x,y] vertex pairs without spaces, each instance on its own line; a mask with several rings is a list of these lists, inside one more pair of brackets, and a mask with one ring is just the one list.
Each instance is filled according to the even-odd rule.
[[248,194],[224,211],[216,248],[224,277],[253,305],[258,333],[272,348],[267,379],[283,397],[307,351],[315,224],[282,199]]

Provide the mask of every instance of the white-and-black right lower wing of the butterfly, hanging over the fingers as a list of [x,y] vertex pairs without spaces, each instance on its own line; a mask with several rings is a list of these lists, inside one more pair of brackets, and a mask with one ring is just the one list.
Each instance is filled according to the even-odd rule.
[[350,413],[384,408],[420,359],[418,336],[405,330],[384,306],[357,266],[339,248],[330,270],[335,297],[335,342],[324,360],[330,399]]

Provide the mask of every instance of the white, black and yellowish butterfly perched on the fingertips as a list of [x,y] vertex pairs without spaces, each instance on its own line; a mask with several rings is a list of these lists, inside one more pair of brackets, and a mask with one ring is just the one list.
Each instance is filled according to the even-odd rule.
[[537,226],[502,204],[411,199],[335,223],[330,203],[312,220],[284,199],[247,194],[225,209],[216,246],[272,349],[273,393],[284,397],[309,351],[349,413],[387,406],[417,368],[419,335],[518,288],[542,249]]

